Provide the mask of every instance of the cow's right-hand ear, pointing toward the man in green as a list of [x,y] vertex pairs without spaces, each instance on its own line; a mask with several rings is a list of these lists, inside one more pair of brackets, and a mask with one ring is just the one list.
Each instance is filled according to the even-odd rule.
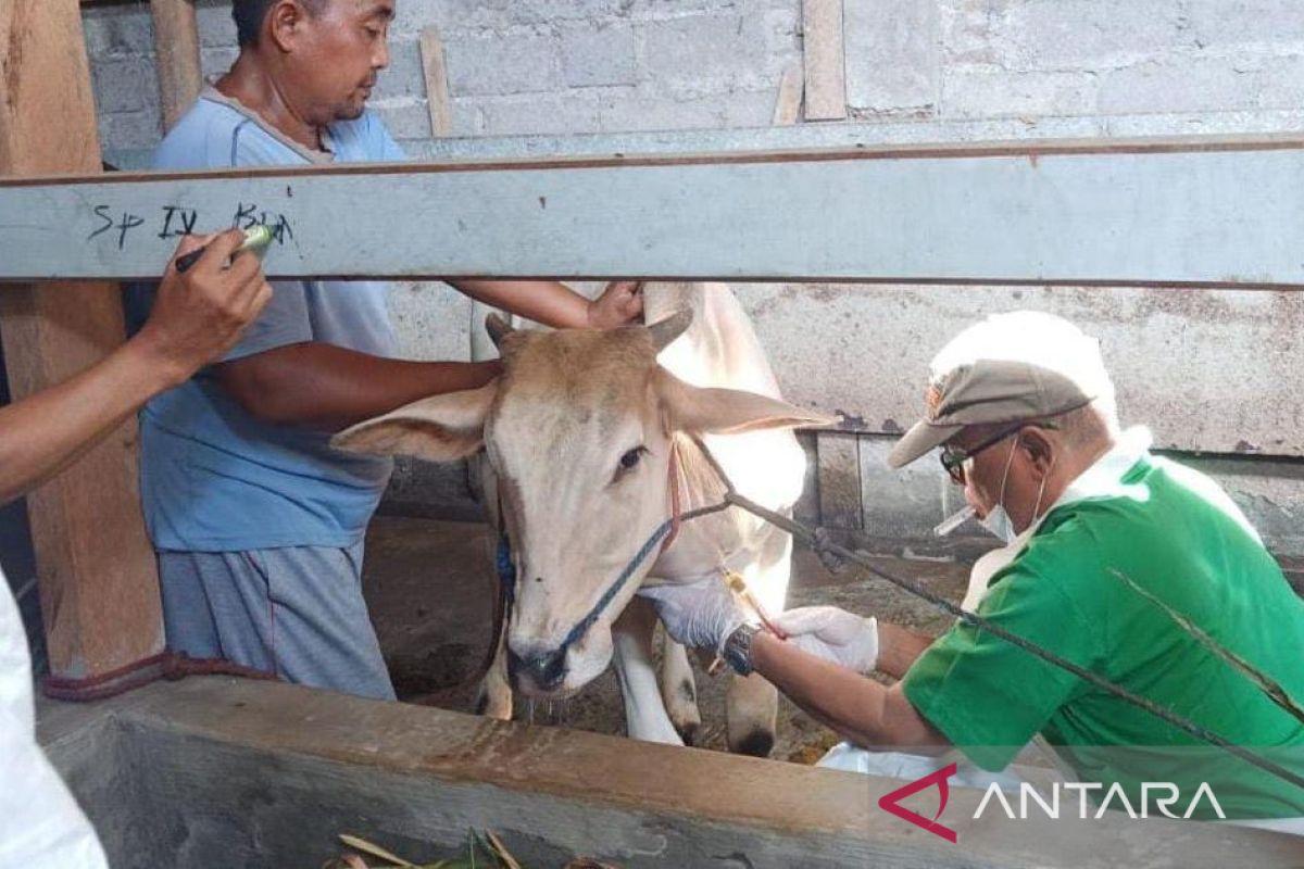
[[803,410],[755,392],[690,386],[660,366],[653,375],[653,390],[672,430],[677,431],[729,434],[837,422],[837,417]]

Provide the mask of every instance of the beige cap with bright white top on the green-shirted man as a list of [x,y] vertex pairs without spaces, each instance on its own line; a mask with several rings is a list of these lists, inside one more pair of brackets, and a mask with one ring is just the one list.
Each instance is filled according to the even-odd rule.
[[994,314],[934,357],[925,404],[888,453],[901,468],[965,426],[1043,420],[1114,396],[1101,345],[1068,321],[1038,311]]

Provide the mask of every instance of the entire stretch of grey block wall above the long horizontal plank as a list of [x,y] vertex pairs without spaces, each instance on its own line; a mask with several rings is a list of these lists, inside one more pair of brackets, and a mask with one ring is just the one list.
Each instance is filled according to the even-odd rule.
[[[236,55],[230,3],[197,9],[205,74],[220,74]],[[154,145],[146,5],[83,20],[106,147]],[[765,126],[802,56],[801,0],[399,0],[373,106],[400,139],[430,134],[428,26],[446,47],[459,137]],[[1116,135],[1301,125],[1294,0],[845,0],[844,48],[849,122]]]

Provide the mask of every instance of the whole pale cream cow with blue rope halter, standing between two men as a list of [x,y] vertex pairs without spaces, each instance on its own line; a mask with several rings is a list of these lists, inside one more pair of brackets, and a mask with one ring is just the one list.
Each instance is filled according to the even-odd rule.
[[[644,321],[651,326],[602,331],[490,323],[503,360],[499,378],[361,422],[333,444],[433,461],[484,447],[485,503],[515,567],[514,606],[482,687],[485,714],[510,718],[512,688],[567,697],[614,657],[629,735],[682,745],[700,726],[692,670],[685,649],[668,638],[659,685],[656,612],[635,597],[638,588],[732,569],[778,612],[792,539],[739,509],[683,522],[595,608],[675,500],[687,512],[721,499],[724,487],[694,438],[742,495],[790,515],[806,472],[792,429],[832,420],[782,401],[751,323],[724,284],[647,284]],[[571,636],[585,619],[591,625]],[[733,677],[726,710],[729,749],[768,754],[775,688],[756,675]]]

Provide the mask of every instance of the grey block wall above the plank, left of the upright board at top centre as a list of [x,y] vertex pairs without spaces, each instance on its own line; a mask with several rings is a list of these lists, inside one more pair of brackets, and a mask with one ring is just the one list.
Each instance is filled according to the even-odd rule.
[[[198,0],[202,66],[236,56],[230,3]],[[430,134],[419,35],[447,55],[452,135],[759,126],[801,57],[799,0],[399,0],[373,106],[399,139]],[[83,14],[107,149],[162,137],[142,4]],[[149,102],[151,104],[142,104]]]

